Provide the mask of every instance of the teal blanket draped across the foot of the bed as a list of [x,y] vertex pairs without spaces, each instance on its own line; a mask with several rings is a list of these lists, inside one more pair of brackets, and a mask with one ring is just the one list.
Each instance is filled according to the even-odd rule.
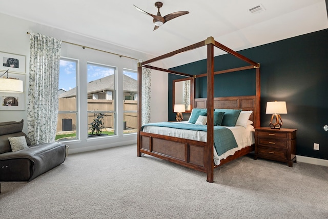
[[[170,123],[170,122],[149,123],[142,126],[141,131],[144,129],[145,126],[159,126],[159,127],[198,130],[198,131],[207,132],[207,126],[195,125],[190,123]],[[238,145],[230,129],[222,126],[214,126],[214,148],[219,156],[229,151],[230,149],[236,147],[238,147]]]

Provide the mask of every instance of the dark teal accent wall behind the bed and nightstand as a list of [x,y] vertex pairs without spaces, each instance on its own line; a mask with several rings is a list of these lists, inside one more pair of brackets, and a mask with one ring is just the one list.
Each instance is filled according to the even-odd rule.
[[[261,65],[261,126],[268,127],[265,114],[268,101],[285,101],[288,114],[281,114],[283,128],[297,131],[296,154],[328,160],[328,29],[238,51]],[[226,45],[229,47],[229,45]],[[247,66],[236,57],[215,57],[215,71]],[[206,73],[206,60],[171,68],[189,74]],[[172,84],[169,74],[169,120],[172,110]],[[214,96],[255,94],[255,70],[215,76]],[[196,97],[206,97],[206,78],[196,81]],[[185,120],[189,114],[183,113]],[[313,150],[313,143],[320,150]]]

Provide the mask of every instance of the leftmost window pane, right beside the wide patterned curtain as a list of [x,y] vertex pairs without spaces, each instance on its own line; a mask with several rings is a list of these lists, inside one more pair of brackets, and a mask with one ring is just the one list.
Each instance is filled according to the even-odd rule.
[[58,121],[56,141],[78,138],[78,61],[60,58],[58,83]]

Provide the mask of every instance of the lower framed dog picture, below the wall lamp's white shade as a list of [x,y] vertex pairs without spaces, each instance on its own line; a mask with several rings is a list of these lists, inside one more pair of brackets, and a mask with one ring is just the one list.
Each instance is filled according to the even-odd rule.
[[25,93],[0,93],[0,110],[25,110]]

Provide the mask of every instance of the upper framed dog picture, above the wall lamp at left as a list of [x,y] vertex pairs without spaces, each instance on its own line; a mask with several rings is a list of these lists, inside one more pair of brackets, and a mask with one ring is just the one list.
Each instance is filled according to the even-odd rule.
[[25,73],[26,56],[0,51],[0,70]]

